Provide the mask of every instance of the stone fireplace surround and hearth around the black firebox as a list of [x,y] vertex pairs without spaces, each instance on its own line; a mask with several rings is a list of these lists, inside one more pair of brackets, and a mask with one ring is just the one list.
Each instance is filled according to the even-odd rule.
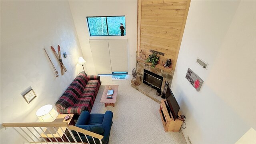
[[170,85],[172,84],[173,70],[171,72],[168,72],[168,71],[156,68],[156,67],[152,68],[150,65],[146,64],[145,62],[137,60],[136,71],[137,71],[137,76],[140,76],[141,83],[139,86],[135,86],[135,85],[131,84],[132,87],[136,88],[138,91],[142,92],[144,95],[152,98],[153,100],[155,100],[156,102],[158,102],[160,104],[161,99],[162,99],[161,96],[157,96],[155,89],[150,88],[150,86],[148,86],[142,82],[144,69],[148,70],[150,72],[153,72],[154,74],[158,74],[164,78],[163,82],[162,82],[162,88],[161,88],[162,92],[164,89],[164,83],[166,81],[170,82]]

